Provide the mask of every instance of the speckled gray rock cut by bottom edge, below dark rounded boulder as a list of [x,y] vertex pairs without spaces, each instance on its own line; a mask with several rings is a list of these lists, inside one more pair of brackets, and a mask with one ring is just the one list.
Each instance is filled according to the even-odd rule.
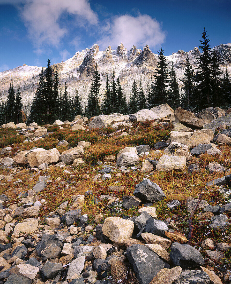
[[209,284],[210,278],[201,270],[183,270],[172,284]]

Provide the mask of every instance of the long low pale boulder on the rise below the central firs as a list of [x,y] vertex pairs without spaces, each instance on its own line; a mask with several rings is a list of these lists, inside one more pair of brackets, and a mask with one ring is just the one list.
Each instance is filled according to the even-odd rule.
[[123,115],[123,114],[120,114],[120,113],[98,115],[98,116],[95,116],[90,121],[89,129],[108,127],[113,121],[115,121],[115,122],[119,122],[119,121],[127,122],[128,120],[129,120],[128,115]]

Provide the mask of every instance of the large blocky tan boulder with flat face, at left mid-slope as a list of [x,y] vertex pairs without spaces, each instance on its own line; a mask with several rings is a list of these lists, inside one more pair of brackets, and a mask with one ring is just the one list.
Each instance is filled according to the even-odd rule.
[[60,154],[56,148],[41,152],[31,152],[27,155],[28,163],[30,167],[38,167],[39,165],[46,163],[51,164],[60,161]]

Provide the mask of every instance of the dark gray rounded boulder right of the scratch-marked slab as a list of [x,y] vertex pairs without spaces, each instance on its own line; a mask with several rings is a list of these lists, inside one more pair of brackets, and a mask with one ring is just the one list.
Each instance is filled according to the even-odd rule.
[[180,243],[171,245],[170,259],[175,266],[181,266],[182,268],[192,268],[205,264],[203,256],[197,249]]

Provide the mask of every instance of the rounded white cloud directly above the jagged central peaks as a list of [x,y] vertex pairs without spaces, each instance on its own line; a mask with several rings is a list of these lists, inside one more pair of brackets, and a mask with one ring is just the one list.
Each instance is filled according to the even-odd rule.
[[99,44],[103,48],[111,45],[115,49],[122,42],[127,49],[130,49],[133,44],[143,49],[146,44],[149,47],[155,47],[163,43],[165,37],[166,33],[162,30],[160,23],[151,16],[125,14],[105,22]]

